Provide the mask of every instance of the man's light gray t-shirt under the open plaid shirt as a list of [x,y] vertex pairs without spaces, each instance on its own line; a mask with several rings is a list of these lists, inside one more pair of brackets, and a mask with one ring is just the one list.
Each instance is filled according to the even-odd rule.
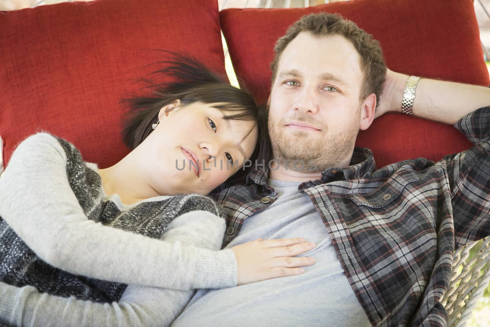
[[297,276],[198,290],[172,326],[370,326],[318,212],[309,196],[297,190],[300,183],[269,184],[278,199],[247,218],[226,248],[259,237],[305,237],[317,247],[301,256],[315,257],[315,264]]

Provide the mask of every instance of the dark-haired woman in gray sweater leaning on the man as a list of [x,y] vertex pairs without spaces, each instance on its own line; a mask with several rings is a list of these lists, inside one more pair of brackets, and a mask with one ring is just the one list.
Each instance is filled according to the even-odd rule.
[[168,326],[192,289],[311,264],[284,260],[311,250],[303,239],[216,251],[221,210],[190,193],[207,194],[245,160],[266,158],[267,114],[243,89],[179,59],[159,71],[172,83],[130,100],[124,140],[134,149],[116,165],[98,169],[47,133],[16,149],[0,179],[0,323]]

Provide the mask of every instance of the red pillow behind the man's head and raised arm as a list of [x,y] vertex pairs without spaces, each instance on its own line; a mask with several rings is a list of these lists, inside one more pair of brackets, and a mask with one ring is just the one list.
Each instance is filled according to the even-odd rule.
[[[372,34],[393,71],[490,83],[472,0],[353,0],[308,8],[223,10],[221,28],[233,66],[259,101],[269,96],[275,41],[301,16],[321,11],[340,13]],[[356,141],[374,152],[378,167],[419,156],[439,160],[471,145],[452,126],[396,113],[376,119]]]

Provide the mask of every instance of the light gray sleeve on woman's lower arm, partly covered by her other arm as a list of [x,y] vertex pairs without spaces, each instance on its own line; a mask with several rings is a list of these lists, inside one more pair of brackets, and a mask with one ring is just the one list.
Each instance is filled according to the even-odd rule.
[[[163,235],[165,241],[217,250],[225,223],[209,212],[193,211],[176,217],[168,227]],[[119,302],[94,303],[40,294],[31,286],[21,288],[0,282],[0,323],[13,326],[170,326],[193,295],[192,290],[128,285]]]

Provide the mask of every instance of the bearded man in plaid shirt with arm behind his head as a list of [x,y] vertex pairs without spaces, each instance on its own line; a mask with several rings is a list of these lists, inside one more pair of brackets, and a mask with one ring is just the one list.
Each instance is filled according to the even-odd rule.
[[[279,165],[216,194],[228,215],[223,247],[303,236],[317,243],[305,253],[315,264],[198,290],[172,326],[445,326],[452,253],[490,231],[490,89],[387,71],[379,44],[331,14],[303,17],[274,50]],[[377,170],[354,142],[388,110],[456,123],[476,146]]]

